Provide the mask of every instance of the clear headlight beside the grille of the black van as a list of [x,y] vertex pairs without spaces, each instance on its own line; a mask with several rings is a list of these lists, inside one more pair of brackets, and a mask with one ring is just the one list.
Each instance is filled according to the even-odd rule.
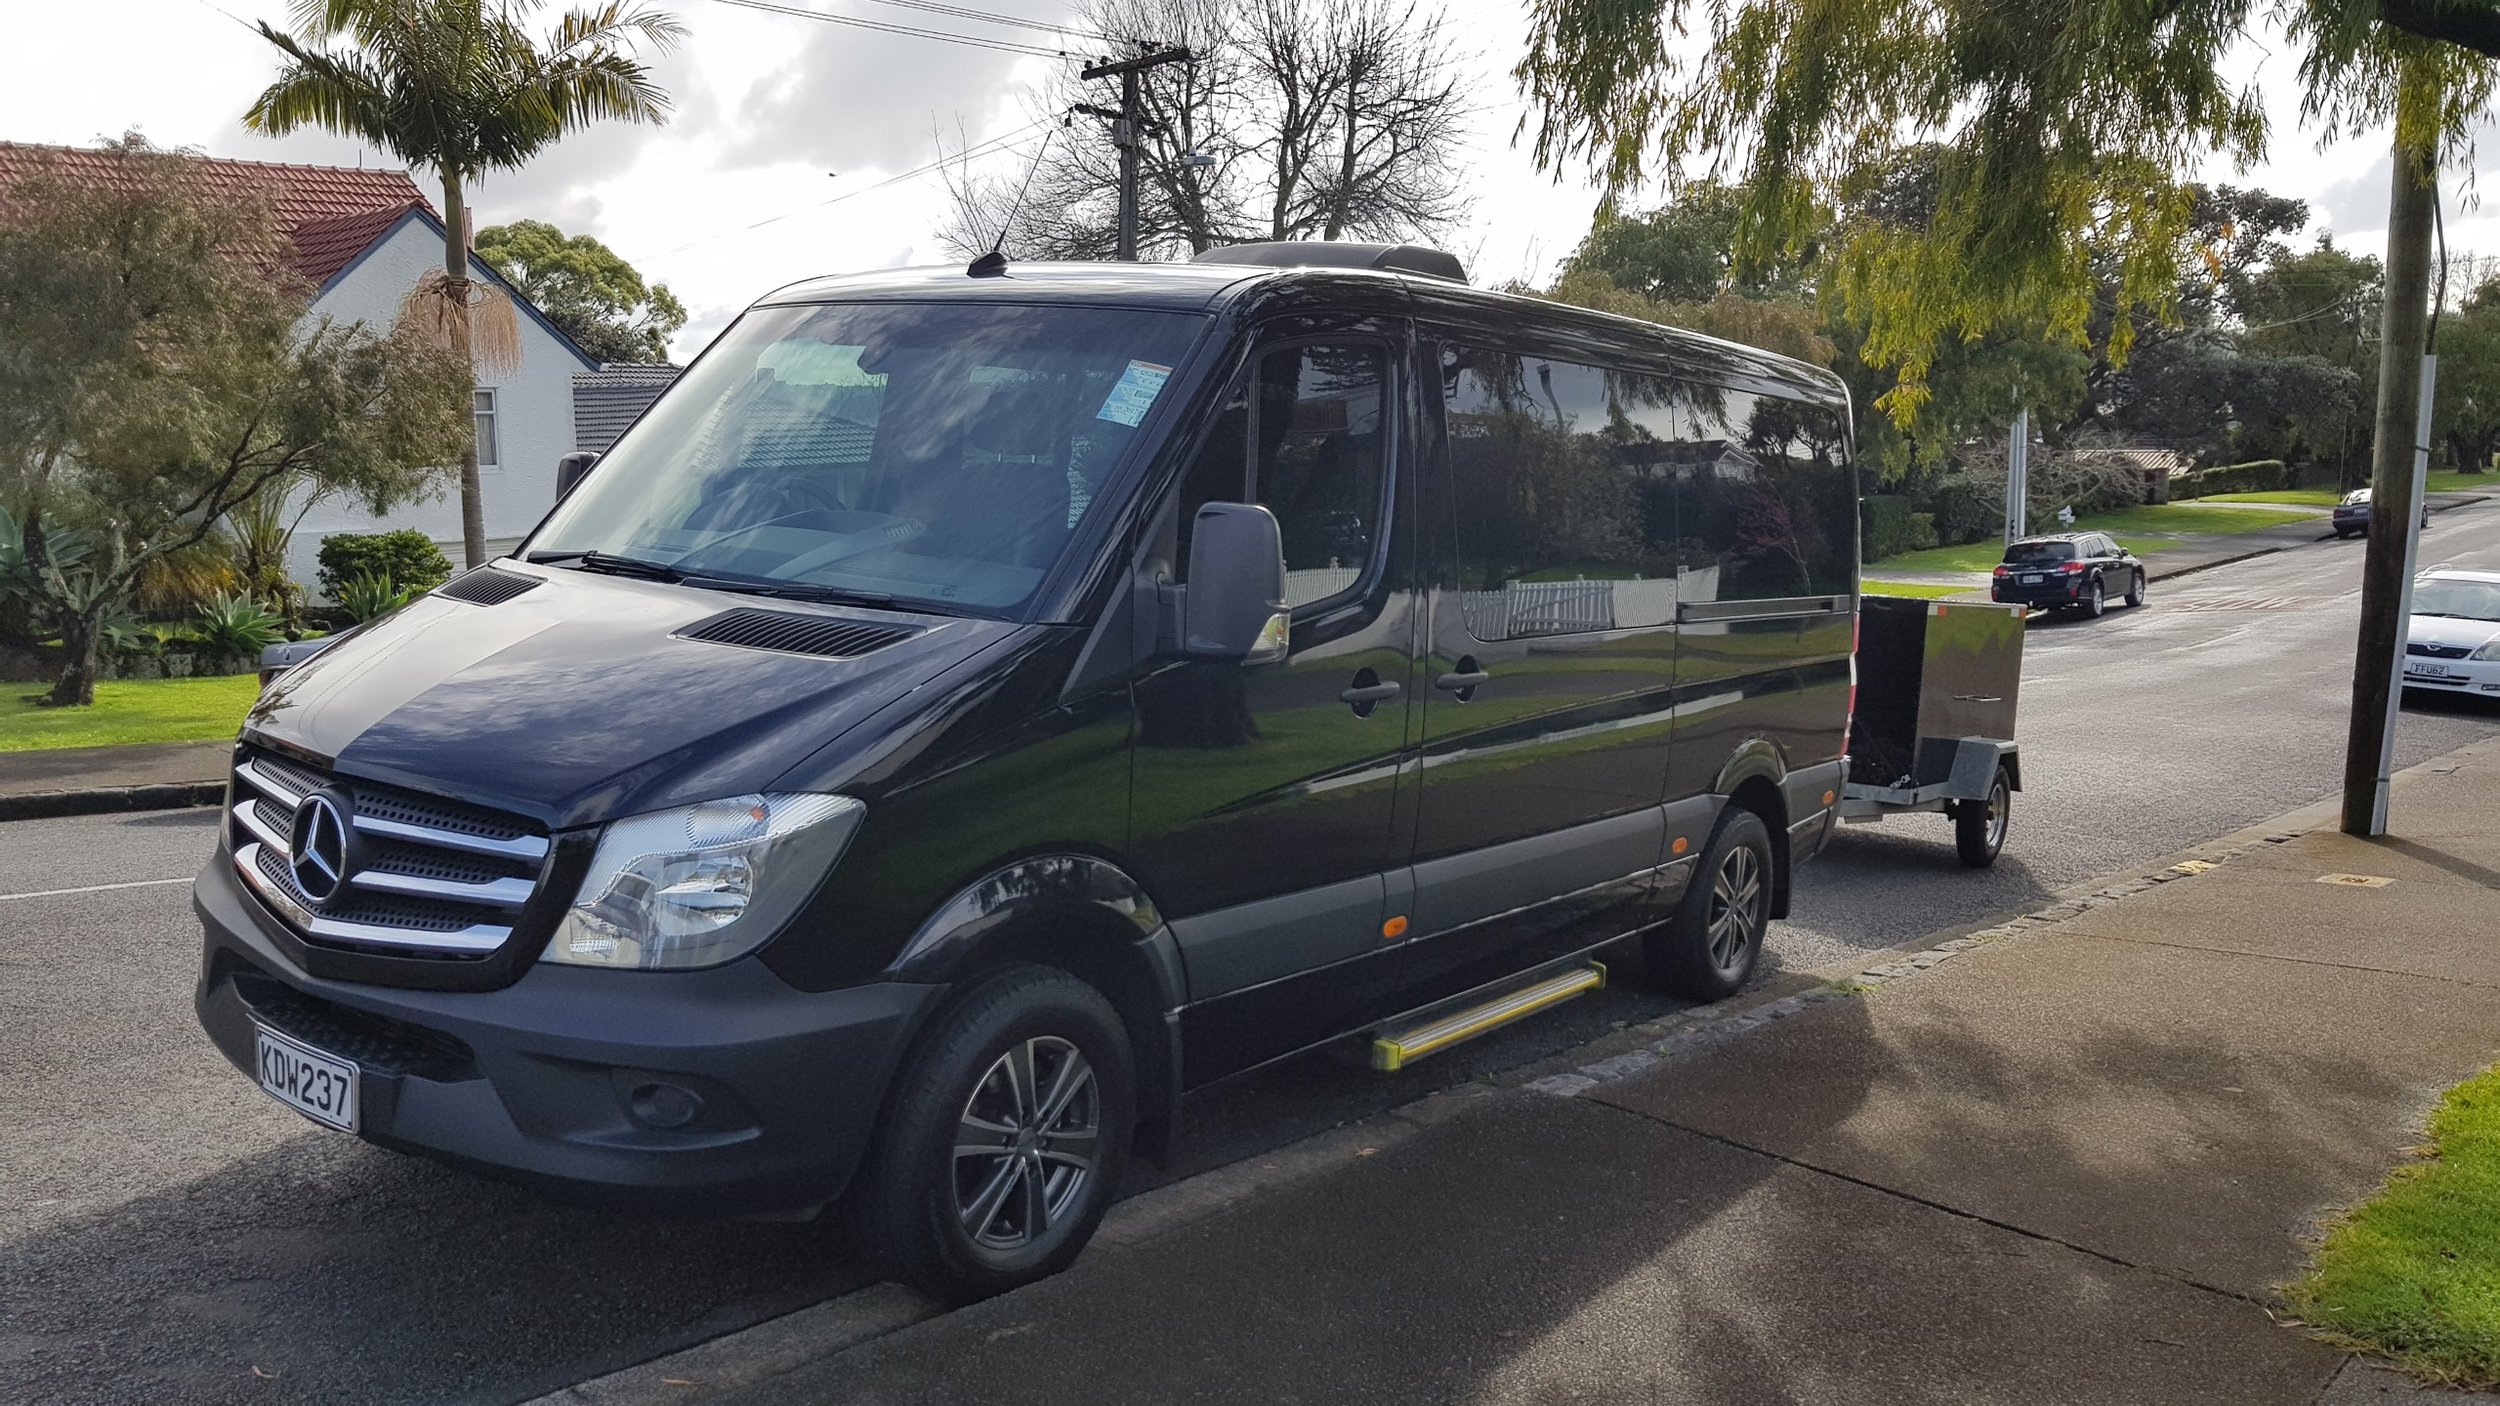
[[542,961],[638,971],[760,948],[842,858],[850,796],[732,796],[608,826]]

